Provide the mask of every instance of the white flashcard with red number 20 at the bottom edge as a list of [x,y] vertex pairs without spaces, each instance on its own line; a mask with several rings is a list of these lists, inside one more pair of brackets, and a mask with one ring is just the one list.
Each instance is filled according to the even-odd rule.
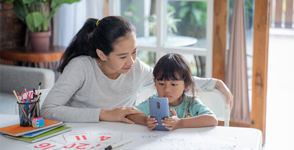
[[[80,143],[72,143],[70,145],[61,147],[59,149],[101,149],[109,146],[109,143],[88,143],[88,142],[80,142]],[[59,150],[58,149],[58,150]]]

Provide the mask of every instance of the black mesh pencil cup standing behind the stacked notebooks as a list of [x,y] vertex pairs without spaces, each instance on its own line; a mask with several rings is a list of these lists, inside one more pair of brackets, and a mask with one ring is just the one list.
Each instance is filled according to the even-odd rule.
[[[32,99],[31,99],[32,100]],[[32,119],[40,117],[40,99],[31,103],[18,103],[19,124],[22,127],[32,127]]]

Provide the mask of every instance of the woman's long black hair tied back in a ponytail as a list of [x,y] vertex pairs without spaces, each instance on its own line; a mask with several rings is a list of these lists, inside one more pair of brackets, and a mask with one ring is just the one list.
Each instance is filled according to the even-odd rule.
[[97,21],[94,18],[87,19],[62,55],[57,71],[62,73],[70,60],[77,56],[98,58],[96,49],[108,56],[114,51],[114,45],[123,40],[121,37],[136,33],[133,24],[120,16],[108,16]]

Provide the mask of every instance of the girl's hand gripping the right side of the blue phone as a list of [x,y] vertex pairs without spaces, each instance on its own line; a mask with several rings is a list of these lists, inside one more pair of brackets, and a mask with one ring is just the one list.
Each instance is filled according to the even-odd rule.
[[181,121],[180,118],[178,118],[176,110],[175,109],[170,109],[172,111],[172,117],[169,118],[164,118],[164,120],[161,120],[163,123],[163,126],[166,126],[166,129],[169,130],[174,130],[178,128],[178,125]]

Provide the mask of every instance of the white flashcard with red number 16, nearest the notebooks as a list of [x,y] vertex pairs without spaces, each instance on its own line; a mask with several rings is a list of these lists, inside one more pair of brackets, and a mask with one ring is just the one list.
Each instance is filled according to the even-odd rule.
[[53,150],[53,149],[67,146],[69,144],[71,143],[67,143],[67,141],[63,139],[48,139],[48,140],[39,141],[36,143],[26,145],[25,147],[29,149]]

